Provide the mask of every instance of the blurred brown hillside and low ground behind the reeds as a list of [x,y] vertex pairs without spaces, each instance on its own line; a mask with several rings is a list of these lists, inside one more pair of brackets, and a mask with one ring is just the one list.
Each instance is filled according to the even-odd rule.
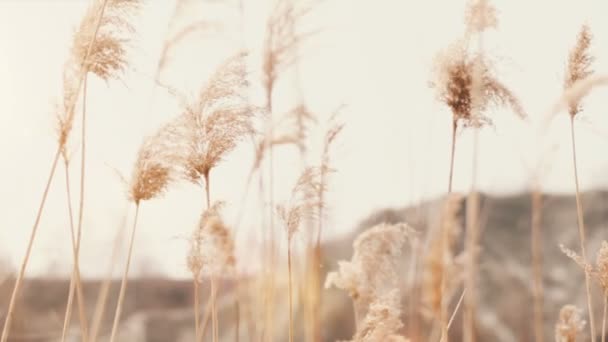
[[[608,222],[608,192],[594,191],[583,195],[585,220],[589,241],[590,259],[595,258],[602,239],[607,238],[605,222]],[[573,196],[545,195],[543,202],[543,260],[545,287],[545,338],[554,340],[553,327],[559,308],[564,304],[577,304],[585,308],[583,273],[578,266],[560,251],[564,244],[578,251],[578,230],[576,206]],[[466,199],[462,213],[466,211]],[[441,201],[421,203],[417,207],[386,209],[376,212],[361,222],[353,233],[340,240],[327,242],[324,247],[324,271],[336,268],[340,259],[350,259],[352,241],[358,232],[380,222],[410,223],[420,232],[437,224]],[[464,217],[461,223],[465,226]],[[480,279],[477,292],[480,307],[477,314],[477,329],[480,341],[532,341],[532,277],[530,253],[530,194],[508,197],[481,196],[482,246],[480,250]],[[461,247],[462,248],[462,234]],[[424,312],[415,312],[408,306],[416,294],[424,292],[420,284],[407,283],[407,272],[411,269],[412,258],[409,247],[403,255],[403,304],[405,334],[410,335],[411,322],[418,322],[418,330],[425,332],[429,327]],[[279,272],[282,274],[282,271]],[[279,279],[282,275],[279,275]],[[283,284],[283,283],[281,283]],[[86,281],[85,297],[89,317],[93,315],[94,303],[100,287],[99,281]],[[223,341],[234,340],[236,306],[231,296],[234,283],[225,282],[219,298],[220,331]],[[249,286],[252,285],[252,286]],[[256,331],[256,308],[246,304],[246,298],[259,296],[252,280],[241,281],[242,303],[240,310],[240,340],[248,341]],[[0,284],[0,317],[7,307],[12,281]],[[119,284],[115,282],[109,295],[108,307],[102,324],[102,334],[107,334],[118,294]],[[596,288],[597,290],[597,288]],[[203,300],[207,299],[208,284],[203,287]],[[284,289],[277,290],[277,307],[286,307]],[[462,287],[456,290],[458,297]],[[10,341],[58,341],[65,310],[68,281],[65,279],[27,279],[23,295],[18,305],[13,334]],[[410,296],[411,295],[411,296]],[[243,299],[244,298],[244,299]],[[601,298],[599,291],[595,298]],[[455,298],[456,300],[457,298]],[[130,282],[124,305],[121,341],[191,341],[193,339],[191,282],[161,278],[140,278]],[[596,305],[600,316],[601,303]],[[418,306],[417,306],[418,307]],[[453,305],[452,305],[453,307]],[[257,308],[259,310],[259,308]],[[285,339],[286,314],[277,310],[276,337]],[[78,335],[78,315],[73,315],[74,336]],[[296,313],[296,325],[303,325],[301,314]],[[323,292],[323,335],[326,341],[350,338],[353,331],[353,313],[350,299],[344,292],[325,290]],[[1,323],[0,323],[1,324]],[[457,316],[452,326],[454,341],[460,336],[461,322]],[[299,336],[303,332],[299,331]],[[424,336],[424,335],[418,335]],[[300,337],[298,340],[302,341]],[[76,341],[76,339],[74,339]]]

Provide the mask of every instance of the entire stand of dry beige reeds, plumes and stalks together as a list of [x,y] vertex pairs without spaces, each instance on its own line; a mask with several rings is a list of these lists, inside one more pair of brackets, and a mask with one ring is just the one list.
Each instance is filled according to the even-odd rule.
[[[127,197],[135,207],[135,215],[117,300],[110,303],[107,297],[112,282],[101,283],[96,288],[99,292],[95,294],[91,294],[89,288],[89,294],[85,295],[83,287],[86,281],[80,278],[79,269],[81,235],[82,230],[87,228],[83,224],[85,185],[86,181],[90,181],[85,177],[86,97],[95,96],[87,94],[87,78],[115,80],[129,67],[126,51],[130,36],[134,33],[130,21],[137,15],[138,8],[144,5],[138,0],[92,2],[76,30],[70,59],[65,65],[63,105],[57,109],[57,150],[26,254],[13,282],[3,282],[4,279],[0,278],[4,287],[12,287],[6,308],[2,303],[0,311],[4,320],[0,342],[17,341],[17,338],[11,338],[15,329],[13,318],[21,312],[20,306],[24,305],[20,300],[24,284],[27,283],[24,276],[60,158],[64,162],[67,180],[65,191],[73,250],[73,272],[69,295],[64,304],[61,341],[74,340],[69,335],[74,335],[70,333],[70,327],[76,324],[79,327],[76,340],[129,340],[128,337],[121,337],[120,331],[125,329],[123,309],[125,306],[131,307],[127,288],[132,252],[137,247],[138,215],[144,202],[170,192],[178,184],[198,187],[206,203],[205,207],[200,208],[199,224],[189,239],[190,249],[184,251],[185,263],[192,273],[192,279],[186,285],[182,284],[182,287],[188,288],[186,291],[191,292],[184,295],[187,297],[185,302],[188,303],[188,310],[191,310],[188,311],[190,323],[186,330],[192,331],[189,336],[194,341],[328,340],[332,336],[330,331],[336,327],[324,320],[326,312],[331,309],[327,292],[335,288],[345,291],[352,300],[352,313],[348,312],[351,309],[341,310],[342,318],[338,320],[347,321],[354,315],[354,330],[349,332],[352,341],[483,340],[478,327],[479,317],[483,315],[479,309],[479,253],[484,248],[480,195],[474,176],[466,209],[463,208],[464,197],[453,192],[452,180],[456,172],[459,132],[473,130],[477,136],[477,131],[484,126],[493,125],[491,116],[498,107],[506,107],[522,119],[527,117],[517,91],[498,79],[495,65],[484,51],[484,32],[490,28],[499,29],[497,11],[489,0],[471,0],[465,13],[464,36],[438,53],[435,68],[431,70],[432,88],[436,91],[437,100],[445,105],[451,115],[446,116],[446,122],[449,120],[451,123],[450,167],[446,170],[448,187],[440,209],[434,213],[435,218],[427,224],[415,220],[387,220],[365,227],[354,240],[351,260],[340,261],[337,266],[330,264],[334,270],[327,273],[322,268],[326,260],[322,232],[330,228],[325,227],[328,216],[325,209],[330,205],[326,192],[331,188],[331,177],[336,171],[332,166],[332,146],[340,139],[343,129],[348,129],[348,119],[341,115],[343,108],[340,107],[327,115],[329,120],[323,132],[321,122],[325,121],[324,114],[312,113],[302,98],[294,101],[293,109],[286,113],[278,112],[274,105],[277,84],[288,72],[297,70],[299,58],[305,58],[299,53],[300,45],[322,34],[322,30],[305,32],[299,29],[301,22],[314,13],[316,6],[322,5],[322,2],[277,0],[266,21],[260,65],[252,62],[252,52],[235,49],[211,77],[201,81],[200,89],[193,90],[197,94],[195,96],[181,94],[166,84],[161,79],[161,71],[171,67],[169,56],[178,41],[186,40],[186,36],[194,30],[206,30],[214,24],[195,23],[164,40],[152,83],[171,89],[181,101],[181,112],[155,134],[143,139],[133,165],[132,177],[125,181]],[[177,1],[174,16],[184,11],[185,6],[186,1]],[[583,110],[584,97],[593,88],[608,83],[607,77],[593,75],[592,42],[592,31],[584,26],[569,55],[564,51],[564,57],[567,57],[564,93],[556,94],[559,101],[551,113],[553,117],[566,109],[571,119],[574,179],[564,182],[573,181],[576,189],[580,251],[564,246],[561,248],[581,268],[580,274],[572,276],[580,277],[581,281],[584,279],[585,287],[581,291],[585,292],[587,298],[587,310],[582,311],[567,302],[562,303],[563,308],[559,312],[548,314],[544,310],[543,195],[542,189],[535,185],[529,227],[532,262],[528,265],[534,305],[520,309],[534,312],[534,319],[528,328],[534,331],[536,342],[551,339],[560,342],[595,342],[599,338],[604,342],[606,336],[608,243],[602,241],[596,263],[593,265],[589,262],[575,145],[575,118]],[[253,88],[264,94],[261,105],[251,100]],[[78,103],[82,104],[80,117],[76,115]],[[77,214],[72,208],[72,190],[69,187],[69,142],[75,134],[72,127],[76,120],[81,120],[82,127]],[[525,120],[522,124],[526,124]],[[323,136],[318,156],[311,155],[308,149],[309,132],[312,130],[321,131]],[[94,130],[92,134],[95,134]],[[250,186],[257,180],[262,200],[256,211],[263,220],[259,229],[264,232],[261,241],[263,254],[250,256],[261,259],[260,264],[263,265],[255,274],[245,274],[237,267],[240,261],[237,258],[239,254],[235,252],[235,234],[237,227],[242,224],[242,215],[234,222],[227,220],[222,214],[223,203],[214,198],[212,192],[222,186],[215,179],[214,170],[237,147],[248,144],[252,145],[254,156],[243,198],[248,196]],[[477,138],[475,144],[477,151]],[[274,158],[273,150],[284,146],[297,148],[302,169],[291,196],[282,203],[274,198],[275,170],[280,161]],[[236,205],[243,206],[243,203]],[[463,220],[463,216],[466,216],[466,220]],[[465,225],[462,224],[464,221]],[[281,237],[285,240],[279,242]],[[304,241],[303,250],[294,250],[296,237]],[[285,251],[281,250],[282,244],[286,246]],[[402,265],[402,253],[406,250],[408,252],[404,255],[410,267]],[[601,289],[602,298],[593,297],[597,286]],[[207,287],[208,295],[203,291]],[[507,294],[497,294],[502,295]],[[78,308],[77,322],[71,320],[74,298]],[[92,300],[87,301],[95,298],[96,304]],[[231,304],[226,304],[227,301]],[[594,316],[594,307],[601,303],[603,317],[598,320]],[[109,325],[104,313],[106,306],[113,304],[115,310],[111,316],[112,324]],[[227,310],[231,313],[227,314]],[[91,316],[93,312],[95,314]],[[210,334],[207,332],[209,321]],[[462,327],[455,330],[456,322]],[[554,326],[554,337],[547,336],[545,332],[547,322]],[[102,325],[107,326],[107,336],[101,336],[104,334],[100,332]],[[585,330],[587,327],[588,332]]]

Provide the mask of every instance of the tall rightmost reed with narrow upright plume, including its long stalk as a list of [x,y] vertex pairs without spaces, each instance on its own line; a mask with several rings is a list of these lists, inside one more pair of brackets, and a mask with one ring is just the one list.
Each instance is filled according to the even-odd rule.
[[[591,47],[591,31],[589,27],[584,25],[578,35],[576,45],[570,51],[568,57],[568,66],[564,79],[564,89],[568,90],[577,82],[587,79],[592,73],[591,63],[593,56],[589,49]],[[576,161],[576,139],[574,134],[574,118],[580,113],[582,106],[580,101],[570,101],[568,103],[568,113],[570,114],[570,137],[572,142],[572,164],[574,168],[574,185],[576,191],[576,213],[578,221],[579,240],[581,245],[581,257],[584,262],[587,261],[586,236],[585,236],[585,218],[583,212],[583,203],[579,191],[578,167]],[[595,319],[593,317],[593,300],[591,298],[591,287],[589,284],[589,275],[585,273],[585,289],[587,293],[587,310],[589,312],[589,328],[591,330],[591,341],[595,341]]]

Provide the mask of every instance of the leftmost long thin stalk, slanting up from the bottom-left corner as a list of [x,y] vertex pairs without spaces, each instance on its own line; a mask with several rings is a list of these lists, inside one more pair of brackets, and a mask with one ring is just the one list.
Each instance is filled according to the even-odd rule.
[[15,285],[13,286],[13,292],[11,294],[11,299],[8,304],[8,309],[6,310],[6,318],[4,320],[4,327],[2,328],[2,338],[0,338],[0,342],[6,342],[8,340],[10,326],[13,321],[13,315],[15,314],[15,304],[17,302],[17,295],[19,294],[19,290],[21,289],[21,283],[23,282],[23,276],[25,275],[25,269],[27,268],[27,263],[30,259],[30,254],[32,253],[32,246],[34,245],[34,239],[36,238],[36,232],[38,231],[38,225],[40,224],[40,219],[42,217],[44,204],[46,203],[46,198],[48,196],[49,189],[51,188],[51,183],[52,183],[53,177],[55,175],[55,170],[57,169],[57,162],[59,161],[60,156],[61,156],[61,147],[58,146],[57,152],[55,152],[55,158],[53,159],[53,163],[51,165],[51,170],[49,172],[48,180],[44,187],[44,192],[42,193],[42,200],[40,201],[40,206],[38,207],[38,212],[36,214],[34,226],[32,227],[32,232],[30,233],[30,239],[27,243],[25,257],[23,258],[23,262],[21,263],[21,268],[19,269],[19,274],[17,275]]

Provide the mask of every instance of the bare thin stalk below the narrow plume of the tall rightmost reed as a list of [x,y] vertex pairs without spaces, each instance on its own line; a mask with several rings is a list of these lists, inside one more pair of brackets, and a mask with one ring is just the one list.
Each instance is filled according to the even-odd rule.
[[[576,216],[578,219],[578,233],[581,243],[581,257],[587,262],[587,248],[585,238],[585,221],[583,215],[583,204],[579,191],[578,168],[576,164],[576,139],[574,136],[574,115],[570,115],[570,136],[572,138],[572,164],[574,166],[574,184],[576,186]],[[595,319],[593,317],[593,301],[591,299],[591,280],[589,273],[585,272],[585,290],[587,293],[587,309],[589,311],[589,327],[591,329],[591,342],[595,342]]]

